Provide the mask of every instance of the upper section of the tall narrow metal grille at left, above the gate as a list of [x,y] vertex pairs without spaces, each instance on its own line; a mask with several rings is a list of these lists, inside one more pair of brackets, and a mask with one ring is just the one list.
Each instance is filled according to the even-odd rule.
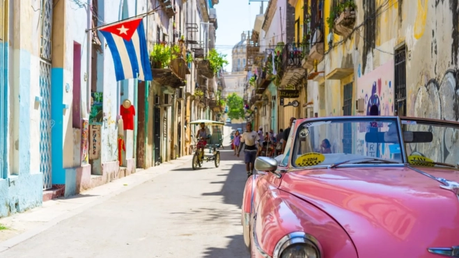
[[40,57],[51,62],[52,0],[42,0]]

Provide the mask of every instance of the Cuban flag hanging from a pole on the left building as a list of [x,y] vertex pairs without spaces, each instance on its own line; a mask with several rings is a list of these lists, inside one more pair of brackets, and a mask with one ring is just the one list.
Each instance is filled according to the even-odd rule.
[[99,30],[113,56],[116,81],[135,78],[153,80],[143,18],[118,22]]

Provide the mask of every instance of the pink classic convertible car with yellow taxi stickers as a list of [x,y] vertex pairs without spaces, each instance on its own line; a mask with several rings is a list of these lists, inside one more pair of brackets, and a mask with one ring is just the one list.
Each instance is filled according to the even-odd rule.
[[459,257],[459,123],[296,120],[244,190],[251,257]]

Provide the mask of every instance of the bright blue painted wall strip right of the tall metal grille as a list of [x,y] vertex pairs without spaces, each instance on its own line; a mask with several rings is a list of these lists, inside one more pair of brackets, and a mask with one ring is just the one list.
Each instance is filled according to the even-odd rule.
[[51,119],[54,127],[52,137],[52,184],[65,184],[63,168],[63,68],[53,67],[51,70]]

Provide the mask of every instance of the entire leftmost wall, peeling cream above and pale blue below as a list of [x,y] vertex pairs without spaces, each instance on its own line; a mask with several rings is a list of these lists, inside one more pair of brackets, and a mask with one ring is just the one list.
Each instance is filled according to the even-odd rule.
[[[39,94],[38,39],[36,27],[39,13],[38,3],[21,5],[20,1],[7,1],[9,12],[21,13],[8,17],[8,142],[7,154],[10,166],[6,168],[6,178],[0,177],[0,217],[26,211],[42,204],[42,173],[38,169],[38,144],[32,143],[36,137],[40,110],[35,104]],[[27,38],[27,40],[24,40]],[[36,40],[31,40],[36,39]],[[37,93],[38,92],[38,93]]]

